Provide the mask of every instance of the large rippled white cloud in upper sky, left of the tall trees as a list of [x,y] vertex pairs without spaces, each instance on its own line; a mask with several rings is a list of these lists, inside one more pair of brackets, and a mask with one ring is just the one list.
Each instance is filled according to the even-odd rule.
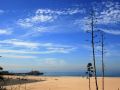
[[[21,35],[21,37],[37,37],[40,36],[41,33],[58,33],[58,32],[66,32],[65,30],[60,30],[59,27],[62,25],[51,24],[58,17],[64,17],[64,15],[71,16],[78,13],[84,13],[84,9],[79,8],[67,8],[62,10],[57,9],[37,9],[33,12],[32,16],[19,19],[17,21],[17,25],[26,29],[26,33]],[[47,23],[47,24],[46,24]],[[49,25],[49,24],[51,25]],[[66,26],[64,26],[66,27]],[[70,29],[69,29],[70,31]],[[68,31],[68,32],[69,32]]]

